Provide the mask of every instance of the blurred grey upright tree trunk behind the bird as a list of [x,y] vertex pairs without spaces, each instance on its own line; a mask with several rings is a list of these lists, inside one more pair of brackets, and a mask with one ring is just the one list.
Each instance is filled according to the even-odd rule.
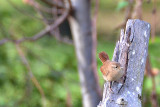
[[71,0],[73,11],[69,22],[78,60],[84,107],[96,107],[101,99],[97,72],[92,66],[92,28],[90,0]]

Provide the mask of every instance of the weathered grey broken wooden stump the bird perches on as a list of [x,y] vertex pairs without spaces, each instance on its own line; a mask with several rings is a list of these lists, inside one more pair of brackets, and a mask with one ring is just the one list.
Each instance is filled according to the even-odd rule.
[[[108,90],[108,83],[104,84],[103,99],[98,107],[141,107],[141,93],[145,63],[148,54],[150,24],[135,19],[128,20],[126,31],[121,31],[121,39],[117,42],[113,60],[120,62],[126,68],[126,80],[122,84],[114,82]],[[118,93],[119,89],[120,92]]]

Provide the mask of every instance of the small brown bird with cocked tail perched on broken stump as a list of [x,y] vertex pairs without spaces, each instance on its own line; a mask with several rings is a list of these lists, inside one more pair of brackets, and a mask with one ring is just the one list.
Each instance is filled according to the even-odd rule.
[[108,55],[105,52],[100,52],[99,58],[103,63],[103,65],[100,68],[103,74],[103,78],[104,80],[110,82],[109,89],[111,92],[113,92],[111,88],[112,81],[119,80],[125,74],[125,71],[120,63],[110,61]]

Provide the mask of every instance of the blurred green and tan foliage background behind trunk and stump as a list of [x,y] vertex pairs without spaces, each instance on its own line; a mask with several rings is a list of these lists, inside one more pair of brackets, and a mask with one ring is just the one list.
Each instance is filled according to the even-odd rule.
[[[51,25],[50,22],[56,22],[56,17],[61,16],[61,11],[64,11],[61,8],[52,10],[53,5],[44,1],[51,2],[0,0],[0,107],[82,106],[76,48],[72,43],[68,20],[63,20],[56,32],[45,33],[45,36],[37,36],[36,39],[36,35],[45,32],[47,26]],[[139,1],[140,13],[136,13],[135,8]],[[97,4],[91,0],[91,16],[97,17],[96,24],[93,25],[97,26],[96,61],[99,86],[103,89],[104,80],[100,72],[102,63],[98,59],[98,53],[106,51],[111,59],[120,29],[125,27],[128,18],[138,17],[150,23],[152,28],[142,103],[144,107],[154,104],[158,106],[160,1],[139,1],[99,0],[96,13]],[[33,36],[35,38],[32,40],[24,38]]]

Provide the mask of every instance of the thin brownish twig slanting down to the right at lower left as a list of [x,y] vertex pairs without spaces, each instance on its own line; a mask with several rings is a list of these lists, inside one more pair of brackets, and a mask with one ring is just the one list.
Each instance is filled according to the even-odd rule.
[[15,44],[15,45],[16,45],[17,52],[18,52],[18,54],[19,54],[19,56],[21,58],[21,61],[22,61],[23,65],[26,67],[33,84],[35,85],[35,87],[38,89],[38,91],[41,94],[43,107],[46,107],[46,101],[45,101],[46,98],[45,98],[44,91],[43,91],[42,87],[40,86],[40,84],[39,84],[38,80],[36,79],[36,77],[33,75],[32,70],[30,68],[30,65],[29,65],[29,63],[28,63],[28,61],[27,61],[27,59],[26,59],[26,57],[24,55],[24,52],[22,51],[20,45],[19,44]]

